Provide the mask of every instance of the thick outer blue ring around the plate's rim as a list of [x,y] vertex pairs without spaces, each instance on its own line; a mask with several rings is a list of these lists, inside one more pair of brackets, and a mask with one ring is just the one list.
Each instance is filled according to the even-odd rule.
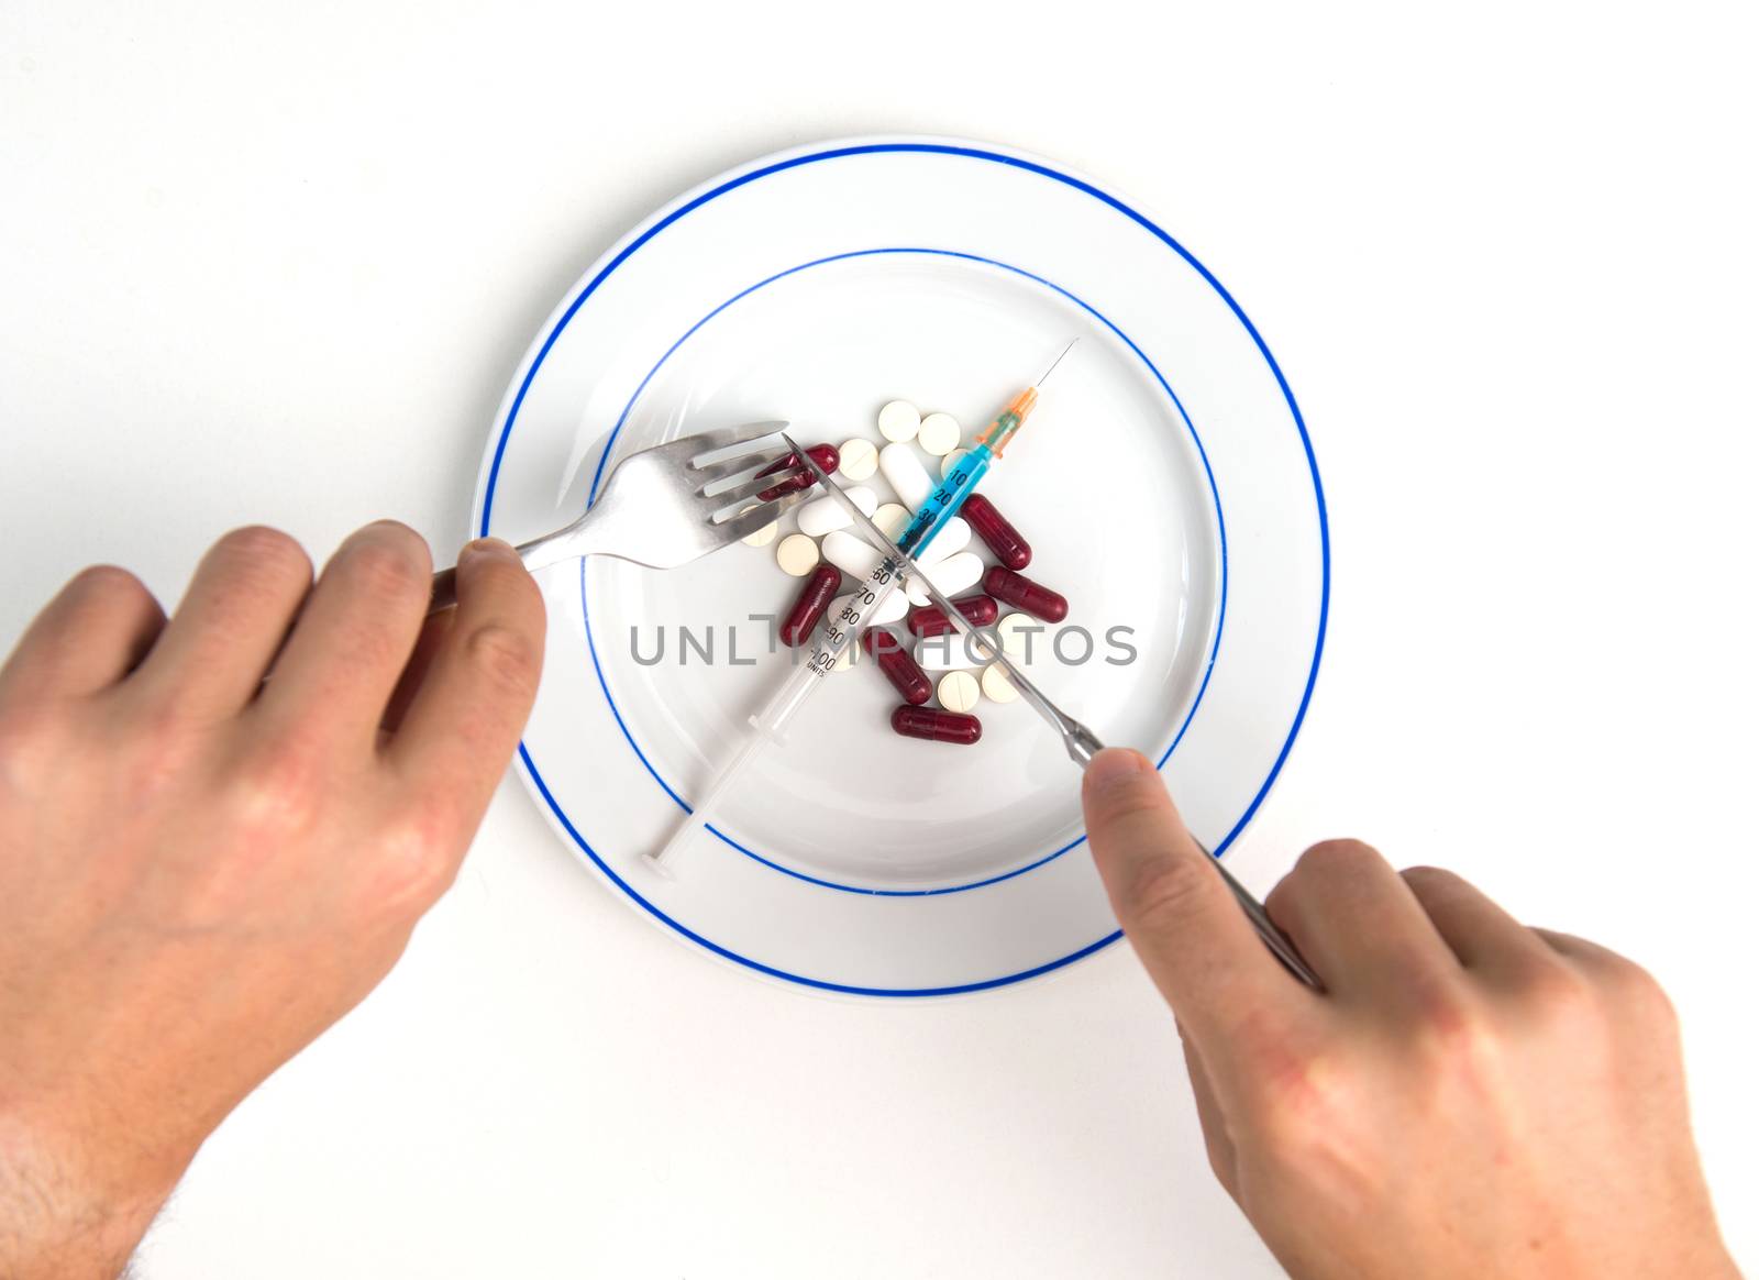
[[[1221,281],[1215,280],[1214,274],[1210,274],[1208,267],[1205,267],[1201,262],[1198,262],[1189,253],[1189,250],[1186,250],[1179,241],[1175,241],[1171,236],[1168,236],[1161,227],[1157,227],[1147,216],[1143,216],[1136,209],[1129,207],[1128,204],[1124,204],[1117,197],[1108,195],[1106,192],[1099,190],[1098,186],[1094,186],[1094,185],[1091,185],[1087,181],[1082,181],[1080,178],[1073,178],[1069,174],[1059,172],[1057,169],[1052,169],[1048,165],[1038,164],[1034,160],[1025,160],[1022,156],[1003,155],[999,151],[987,151],[987,149],[976,148],[976,146],[957,146],[957,144],[952,144],[952,142],[862,142],[862,144],[855,144],[855,146],[837,146],[837,148],[827,148],[827,149],[821,149],[821,151],[809,151],[809,153],[804,153],[804,155],[797,155],[797,156],[788,156],[785,160],[777,160],[777,162],[769,164],[769,165],[762,165],[758,169],[753,169],[751,172],[744,172],[744,174],[739,174],[737,178],[730,178],[725,183],[719,183],[718,186],[709,188],[702,195],[697,195],[695,199],[681,204],[677,209],[672,209],[668,215],[665,215],[663,218],[660,218],[658,222],[654,222],[654,225],[651,225],[647,230],[644,230],[640,236],[637,236],[633,241],[630,241],[621,251],[617,251],[616,257],[612,257],[610,262],[607,262],[586,283],[586,287],[580,290],[580,295],[575,297],[573,302],[568,304],[568,308],[556,320],[556,325],[551,329],[549,336],[544,339],[544,345],[538,348],[536,357],[531,360],[531,367],[526,369],[526,375],[524,375],[524,378],[519,383],[519,390],[514,394],[514,401],[512,401],[512,404],[507,410],[507,420],[501,425],[500,438],[494,443],[494,457],[489,462],[489,478],[487,478],[487,484],[484,487],[482,517],[480,517],[480,522],[478,522],[478,536],[487,536],[487,533],[489,533],[489,519],[491,519],[491,512],[494,508],[494,487],[496,487],[496,482],[500,478],[501,459],[507,454],[507,441],[512,438],[514,424],[519,418],[519,410],[524,404],[526,392],[531,389],[531,382],[536,378],[538,369],[544,366],[544,359],[549,355],[551,348],[556,345],[556,339],[561,338],[561,332],[568,327],[568,322],[573,318],[573,315],[586,304],[586,301],[598,290],[598,287],[603,285],[605,280],[619,265],[623,265],[623,262],[626,262],[644,244],[647,244],[647,241],[651,241],[654,236],[658,236],[661,230],[665,230],[667,227],[670,227],[679,218],[684,218],[691,211],[700,209],[704,204],[709,204],[711,200],[725,195],[726,192],[737,190],[737,188],[741,188],[741,186],[744,186],[748,183],[758,181],[762,178],[769,178],[772,174],[777,174],[777,172],[783,172],[783,171],[788,171],[788,169],[797,169],[800,165],[818,164],[818,162],[823,162],[823,160],[836,160],[836,158],[855,156],[855,155],[899,153],[899,151],[904,151],[904,153],[962,156],[962,158],[978,160],[978,162],[985,162],[985,164],[1008,165],[1008,167],[1020,169],[1020,171],[1025,171],[1025,172],[1031,172],[1031,174],[1038,174],[1040,178],[1047,178],[1047,179],[1055,181],[1055,183],[1062,183],[1062,185],[1066,185],[1066,186],[1069,186],[1069,188],[1073,188],[1077,192],[1082,192],[1082,193],[1085,193],[1085,195],[1099,200],[1101,204],[1115,209],[1117,213],[1124,215],[1126,218],[1129,218],[1131,222],[1135,222],[1136,225],[1140,225],[1143,230],[1147,230],[1149,234],[1152,234],[1156,239],[1159,239],[1163,244],[1166,244],[1166,248],[1170,248],[1180,258],[1184,258],[1184,262],[1187,262],[1198,273],[1198,276],[1201,276],[1203,281],[1210,288],[1215,290],[1217,297],[1221,297],[1221,301],[1228,304],[1228,309],[1233,311],[1233,315],[1245,327],[1245,332],[1251,334],[1252,343],[1258,346],[1259,355],[1265,359],[1265,364],[1268,366],[1272,376],[1277,380],[1277,389],[1282,392],[1282,399],[1289,406],[1289,413],[1295,418],[1295,429],[1296,429],[1296,433],[1300,434],[1300,440],[1302,440],[1302,450],[1303,450],[1303,454],[1307,457],[1307,469],[1309,469],[1309,473],[1312,476],[1314,508],[1316,508],[1316,513],[1319,517],[1319,564],[1321,564],[1321,577],[1319,577],[1319,622],[1317,622],[1316,635],[1314,635],[1312,663],[1310,663],[1310,666],[1307,670],[1307,682],[1305,682],[1305,686],[1302,689],[1302,700],[1300,700],[1300,705],[1295,710],[1295,719],[1289,724],[1289,733],[1284,738],[1282,747],[1277,751],[1277,758],[1272,761],[1270,772],[1265,775],[1265,781],[1258,788],[1256,795],[1252,796],[1252,802],[1245,807],[1245,811],[1235,821],[1233,828],[1215,844],[1214,855],[1219,858],[1233,844],[1233,840],[1238,839],[1240,832],[1252,819],[1252,816],[1258,812],[1259,805],[1265,802],[1265,796],[1270,793],[1270,786],[1275,782],[1277,774],[1282,772],[1282,765],[1288,760],[1289,751],[1295,745],[1295,738],[1300,735],[1302,721],[1305,721],[1305,717],[1307,717],[1307,707],[1312,702],[1314,682],[1319,677],[1319,659],[1321,659],[1321,656],[1325,652],[1325,633],[1326,633],[1326,622],[1330,619],[1330,605],[1332,605],[1332,533],[1330,533],[1330,522],[1328,522],[1326,506],[1325,506],[1325,489],[1323,489],[1323,485],[1319,482],[1319,462],[1314,457],[1312,440],[1307,434],[1307,422],[1305,422],[1305,418],[1302,418],[1302,410],[1295,403],[1295,392],[1289,390],[1288,378],[1282,376],[1282,369],[1277,366],[1277,360],[1270,353],[1270,348],[1265,345],[1265,339],[1258,332],[1258,327],[1251,322],[1251,318],[1245,315],[1245,311],[1240,309],[1240,304],[1235,302],[1233,295],[1226,288],[1223,288]],[[807,264],[807,265],[811,265],[811,264]],[[1052,287],[1052,288],[1055,288],[1055,287]],[[682,341],[682,339],[679,339],[679,341]],[[1163,385],[1166,385],[1164,380],[1163,380]],[[1168,394],[1171,394],[1170,387],[1168,387]],[[1175,403],[1177,403],[1177,399],[1175,399]],[[628,410],[624,410],[624,413],[626,411]],[[1184,410],[1182,408],[1180,408],[1180,417],[1184,417]],[[1187,425],[1191,425],[1189,418],[1186,418],[1186,422],[1187,422]],[[619,418],[619,427],[621,427],[621,418]],[[1194,429],[1193,429],[1193,438],[1194,438]],[[1201,443],[1198,445],[1198,448],[1201,450]],[[607,445],[605,455],[600,459],[600,468],[603,468],[605,457],[609,457],[609,445]],[[1208,461],[1205,457],[1205,469],[1207,469],[1207,466],[1208,466]],[[596,487],[596,484],[598,484],[598,476],[596,475],[595,475],[595,482],[593,484]],[[1212,492],[1214,492],[1214,480],[1212,480]],[[1219,505],[1217,505],[1217,519],[1219,519]],[[1226,557],[1223,559],[1223,564],[1224,564],[1224,573],[1226,573]],[[1226,577],[1224,577],[1224,582],[1226,582]],[[1221,621],[1223,619],[1217,615],[1217,626],[1215,626],[1215,640],[1217,640],[1217,644],[1219,644],[1219,638],[1221,638]],[[1208,672],[1214,666],[1214,659],[1215,659],[1215,649],[1210,651],[1210,666],[1205,668],[1205,686],[1208,682]],[[595,665],[596,665],[596,656],[595,656]],[[609,693],[607,693],[607,698],[609,698]],[[1200,693],[1200,698],[1201,698],[1201,693]],[[1196,703],[1193,703],[1193,710],[1194,710],[1194,707],[1196,707]],[[1189,724],[1189,716],[1187,716],[1186,723]],[[621,717],[619,717],[619,724],[621,724]],[[1184,726],[1180,728],[1180,733],[1182,731],[1184,731]],[[631,742],[631,745],[633,745],[633,742]],[[1177,745],[1177,738],[1175,738],[1175,745]],[[1168,754],[1171,754],[1171,747],[1168,749]],[[1078,948],[1078,949],[1075,949],[1075,951],[1071,951],[1071,953],[1068,953],[1064,956],[1059,956],[1055,960],[1050,960],[1047,964],[1034,965],[1031,969],[1024,969],[1024,971],[1013,972],[1013,974],[1003,974],[999,978],[987,978],[987,979],[974,981],[974,983],[959,983],[959,985],[950,985],[950,986],[913,986],[913,988],[855,986],[855,985],[848,985],[848,983],[830,983],[830,981],[823,981],[823,979],[818,979],[818,978],[809,978],[806,974],[793,974],[793,972],[788,972],[788,971],[783,971],[783,969],[776,969],[774,965],[767,965],[767,964],[763,964],[760,960],[753,960],[749,956],[739,955],[737,951],[730,951],[725,946],[719,946],[718,942],[714,942],[714,941],[711,941],[711,939],[697,934],[695,930],[691,930],[684,923],[674,920],[672,916],[668,916],[667,913],[663,913],[660,907],[656,907],[653,902],[649,902],[647,898],[644,898],[628,881],[624,881],[621,876],[617,876],[616,870],[610,869],[610,865],[593,849],[593,846],[588,844],[586,837],[580,835],[579,828],[575,828],[575,825],[570,821],[568,814],[563,812],[561,805],[556,802],[556,796],[551,793],[549,786],[544,782],[544,775],[538,772],[536,761],[531,758],[531,753],[526,749],[524,742],[519,744],[519,760],[521,760],[521,763],[522,763],[528,777],[531,779],[533,786],[536,788],[538,795],[544,798],[544,802],[549,805],[551,812],[556,816],[556,821],[563,826],[565,832],[568,832],[570,839],[573,839],[573,842],[580,846],[580,851],[586,853],[586,856],[593,860],[593,863],[598,867],[598,870],[603,872],[610,879],[610,883],[616,884],[623,893],[626,893],[630,897],[630,900],[633,900],[637,905],[640,905],[644,911],[647,911],[651,916],[654,916],[660,923],[663,923],[668,928],[675,930],[682,937],[688,937],[691,942],[697,942],[698,946],[712,951],[714,955],[719,955],[725,960],[732,960],[737,965],[742,965],[746,969],[753,969],[753,971],[767,974],[770,978],[779,978],[779,979],[785,979],[785,981],[790,981],[790,983],[799,983],[802,986],[813,986],[813,988],[827,990],[827,992],[841,992],[841,993],[848,993],[848,995],[885,995],[885,997],[959,995],[959,993],[966,993],[966,992],[982,992],[982,990],[989,990],[989,988],[994,988],[994,986],[1008,986],[1011,983],[1025,981],[1027,978],[1038,978],[1040,974],[1047,974],[1047,972],[1050,972],[1054,969],[1062,969],[1064,965],[1069,965],[1069,964],[1073,964],[1073,962],[1077,962],[1077,960],[1080,960],[1084,956],[1089,956],[1094,951],[1099,951],[1101,948],[1105,948],[1105,946],[1115,942],[1119,937],[1122,937],[1122,930],[1113,930],[1113,932],[1110,932],[1110,934],[1096,939],[1094,942],[1089,942],[1087,946],[1082,946],[1082,948]],[[1164,761],[1166,761],[1166,756],[1161,758],[1163,765],[1164,765]],[[646,760],[644,760],[644,763],[646,763]],[[663,782],[661,782],[661,786],[663,786]],[[677,798],[677,796],[674,796],[674,798]],[[1050,856],[1055,856],[1055,855],[1050,855]],[[762,862],[762,858],[760,858],[760,862]],[[1048,862],[1048,858],[1047,860],[1040,860],[1040,863],[1036,863],[1036,865],[1043,865],[1043,862]],[[786,869],[779,869],[779,870],[786,870]],[[1015,872],[1010,872],[1010,876],[1020,874],[1024,870],[1031,870],[1031,867],[1017,869]],[[802,879],[806,879],[806,877],[802,877]],[[997,879],[1006,879],[1006,877],[997,877]],[[990,883],[994,883],[994,881],[990,881]],[[832,886],[832,888],[843,888],[843,886]],[[962,886],[962,888],[978,888],[978,886],[976,884],[969,884],[969,886]],[[864,891],[864,890],[857,890],[857,891]]]

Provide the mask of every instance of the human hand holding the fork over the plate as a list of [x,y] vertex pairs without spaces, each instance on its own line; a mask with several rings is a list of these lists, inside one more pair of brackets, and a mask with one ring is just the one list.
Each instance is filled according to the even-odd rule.
[[[0,668],[0,1275],[114,1275],[190,1157],[445,891],[536,689],[544,603],[380,522],[317,585],[239,529],[167,622],[86,570]],[[264,682],[267,677],[267,682]]]

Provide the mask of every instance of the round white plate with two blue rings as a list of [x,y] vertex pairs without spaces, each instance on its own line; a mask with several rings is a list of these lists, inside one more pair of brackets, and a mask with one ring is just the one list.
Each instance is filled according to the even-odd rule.
[[[855,141],[681,197],[544,325],[491,433],[473,527],[519,542],[566,524],[624,454],[753,418],[883,443],[878,410],[902,397],[953,413],[969,443],[1071,336],[985,480],[1034,547],[1027,575],[1092,636],[1091,659],[1066,631],[1034,670],[1101,738],[1157,760],[1221,853],[1275,779],[1317,672],[1319,475],[1226,290],[1059,165]],[[640,855],[786,677],[786,651],[769,652],[749,615],[785,610],[799,580],[774,547],[737,545],[670,573],[593,559],[540,580],[549,654],[524,777],[566,844],[681,937],[864,995],[997,986],[1117,939],[1082,847],[1078,774],[1031,709],[980,705],[974,747],[899,738],[897,696],[864,666],[827,680],[674,879],[654,874]],[[1106,661],[1126,658],[1117,640],[1131,661]]]

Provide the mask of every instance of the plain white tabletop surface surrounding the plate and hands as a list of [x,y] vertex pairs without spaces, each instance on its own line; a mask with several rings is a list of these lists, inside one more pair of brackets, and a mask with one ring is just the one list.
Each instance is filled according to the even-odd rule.
[[[1143,12],[1156,11],[1156,28]],[[1094,174],[1254,318],[1335,594],[1237,853],[1337,833],[1646,962],[1759,1266],[1752,11],[1091,0],[0,5],[0,644],[229,526],[450,550],[536,325],[783,146]],[[1617,1169],[1604,1171],[1617,1178]],[[503,786],[403,967],[250,1099],[160,1276],[1263,1276],[1122,948],[864,1004],[707,964]]]

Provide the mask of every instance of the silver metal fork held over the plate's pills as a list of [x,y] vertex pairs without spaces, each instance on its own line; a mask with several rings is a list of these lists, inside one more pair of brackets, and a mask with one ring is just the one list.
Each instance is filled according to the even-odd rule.
[[[753,468],[762,471],[786,461],[786,450],[753,457],[753,447],[760,440],[774,436],[786,425],[786,422],[748,422],[739,427],[716,427],[630,454],[612,469],[605,491],[586,515],[565,529],[522,542],[514,550],[528,570],[580,556],[616,556],[649,568],[672,570],[739,542],[811,496],[807,485],[758,503],[751,510],[726,513],[735,503],[786,482],[790,469],[770,469],[769,475],[755,475],[709,492],[711,487],[744,471]],[[732,455],[698,462],[709,454]],[[454,575],[456,570],[434,573],[429,614],[457,603]]]

